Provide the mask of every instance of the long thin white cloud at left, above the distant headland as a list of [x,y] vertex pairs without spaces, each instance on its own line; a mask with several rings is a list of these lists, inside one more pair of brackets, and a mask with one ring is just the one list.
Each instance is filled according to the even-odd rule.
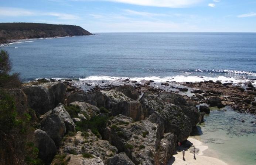
[[43,15],[57,17],[57,19],[81,19],[80,17],[73,14],[65,14],[58,12],[39,12],[26,10],[23,8],[0,7],[0,17],[37,17]]

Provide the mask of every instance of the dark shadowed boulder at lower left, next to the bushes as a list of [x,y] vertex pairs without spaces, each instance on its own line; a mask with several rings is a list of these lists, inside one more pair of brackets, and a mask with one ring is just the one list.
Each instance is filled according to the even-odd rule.
[[37,129],[34,132],[34,144],[39,150],[38,157],[42,159],[46,165],[51,164],[52,159],[57,152],[54,141],[46,132]]

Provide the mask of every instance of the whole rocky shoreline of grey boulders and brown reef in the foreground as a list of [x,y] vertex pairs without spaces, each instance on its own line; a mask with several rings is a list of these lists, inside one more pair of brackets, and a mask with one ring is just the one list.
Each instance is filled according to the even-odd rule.
[[46,165],[166,165],[204,122],[207,104],[255,114],[250,83],[119,82],[82,82],[85,91],[76,80],[39,79],[12,91],[20,111],[35,111],[32,139]]

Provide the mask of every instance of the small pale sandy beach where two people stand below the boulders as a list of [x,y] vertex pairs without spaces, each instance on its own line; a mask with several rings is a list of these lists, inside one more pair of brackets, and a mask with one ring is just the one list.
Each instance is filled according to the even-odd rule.
[[[198,153],[196,153],[194,159],[194,155],[190,153],[190,150],[185,149],[185,160],[182,159],[182,150],[177,151],[177,154],[173,155],[173,157],[168,162],[168,165],[228,165],[225,162],[221,161],[218,158],[205,156],[204,152],[208,153],[208,146],[202,145],[202,142],[191,137],[188,138],[188,143],[192,143],[193,146],[199,149]],[[211,152],[209,152],[211,153]],[[214,154],[213,154],[214,156]]]

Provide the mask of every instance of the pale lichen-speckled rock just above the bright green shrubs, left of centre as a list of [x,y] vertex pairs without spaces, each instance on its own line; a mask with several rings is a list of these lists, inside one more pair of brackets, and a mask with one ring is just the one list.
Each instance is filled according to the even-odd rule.
[[85,102],[75,101],[73,103],[70,103],[69,105],[78,106],[81,112],[85,113],[89,117],[88,120],[93,116],[96,116],[100,111],[98,107]]

